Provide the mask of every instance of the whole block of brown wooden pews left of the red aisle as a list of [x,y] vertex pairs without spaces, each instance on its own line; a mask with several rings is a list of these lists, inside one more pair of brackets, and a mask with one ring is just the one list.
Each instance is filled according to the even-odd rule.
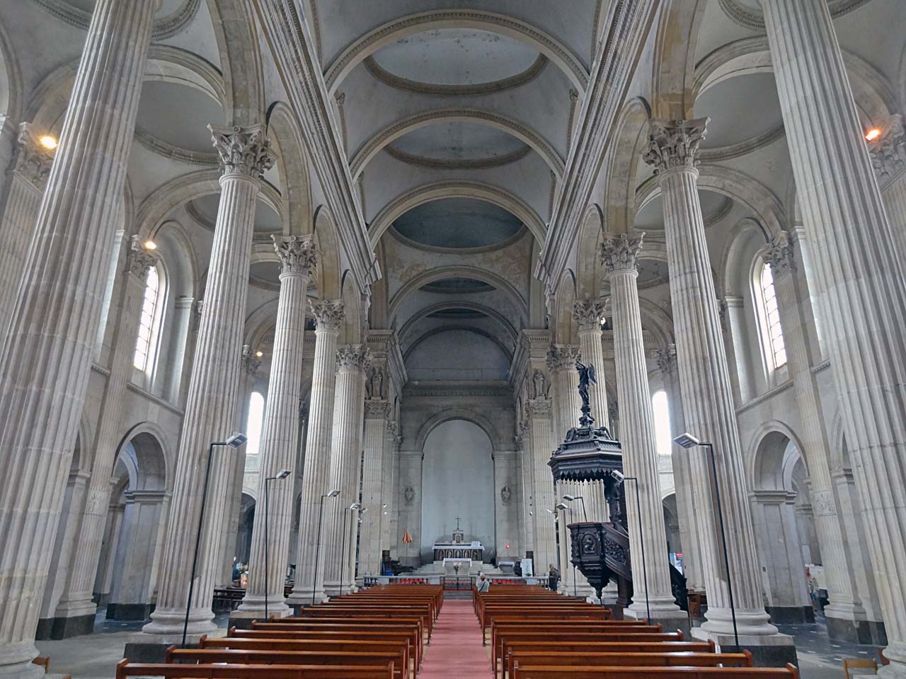
[[414,679],[443,589],[428,585],[362,590],[301,617],[253,621],[198,648],[172,646],[167,662],[117,665],[117,679]]

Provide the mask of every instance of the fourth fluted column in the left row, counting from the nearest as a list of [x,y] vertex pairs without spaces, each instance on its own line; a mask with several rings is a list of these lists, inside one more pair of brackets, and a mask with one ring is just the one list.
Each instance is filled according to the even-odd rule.
[[328,491],[333,393],[336,384],[337,337],[343,320],[342,301],[312,304],[314,316],[314,361],[312,393],[308,406],[308,435],[302,474],[302,502],[299,507],[299,546],[296,554],[295,584],[286,600],[292,607],[309,606],[324,600],[324,521],[331,503],[348,498],[322,498]]

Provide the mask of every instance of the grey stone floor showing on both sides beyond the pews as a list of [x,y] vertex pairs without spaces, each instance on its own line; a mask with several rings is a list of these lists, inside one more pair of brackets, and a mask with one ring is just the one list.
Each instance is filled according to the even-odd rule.
[[[51,672],[72,674],[72,679],[113,679],[127,637],[139,631],[144,623],[107,620],[105,613],[104,610],[98,612],[95,633],[91,636],[37,642],[41,655],[51,657]],[[215,617],[215,622],[226,627],[227,619],[228,614],[222,613]],[[780,629],[795,637],[802,679],[843,679],[844,657],[878,659],[875,646],[830,642],[821,616],[814,625],[783,625]]]

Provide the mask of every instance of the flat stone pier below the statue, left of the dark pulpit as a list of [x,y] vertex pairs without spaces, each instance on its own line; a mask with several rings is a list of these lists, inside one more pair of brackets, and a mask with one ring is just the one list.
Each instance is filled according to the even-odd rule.
[[554,475],[547,466],[554,454],[554,436],[551,426],[553,403],[550,398],[539,396],[528,401],[529,449],[528,456],[533,467],[532,496],[535,499],[535,521],[533,521],[535,543],[535,574],[544,576],[550,564],[557,565],[557,535],[554,517]]

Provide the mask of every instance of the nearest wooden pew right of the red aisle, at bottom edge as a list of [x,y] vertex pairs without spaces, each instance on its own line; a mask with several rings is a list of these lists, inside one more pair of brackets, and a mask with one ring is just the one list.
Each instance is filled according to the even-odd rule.
[[513,679],[798,679],[786,667],[557,667],[516,665]]

